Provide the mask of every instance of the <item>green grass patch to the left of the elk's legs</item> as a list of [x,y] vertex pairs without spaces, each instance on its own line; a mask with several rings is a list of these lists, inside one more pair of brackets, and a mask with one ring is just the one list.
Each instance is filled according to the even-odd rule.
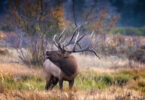
[[43,90],[45,80],[36,76],[3,76],[0,82],[8,89]]

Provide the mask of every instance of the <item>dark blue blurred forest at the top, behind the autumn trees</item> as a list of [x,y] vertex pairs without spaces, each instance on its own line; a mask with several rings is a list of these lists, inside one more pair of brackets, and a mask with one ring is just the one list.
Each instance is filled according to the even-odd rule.
[[[20,1],[29,0],[0,0],[0,14],[6,12],[9,8],[9,2]],[[120,26],[140,27],[145,25],[145,0],[44,0],[44,2],[47,2],[50,7],[69,5],[69,7],[64,8],[66,17],[74,21],[75,24],[82,19],[84,12],[89,11],[91,7],[98,8],[104,5],[109,9],[114,7],[116,10],[113,12],[120,13]],[[97,5],[98,3],[101,5]]]

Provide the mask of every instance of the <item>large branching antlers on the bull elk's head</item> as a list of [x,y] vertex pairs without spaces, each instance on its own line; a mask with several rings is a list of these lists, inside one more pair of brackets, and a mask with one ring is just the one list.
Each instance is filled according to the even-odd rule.
[[[70,40],[65,45],[64,45],[64,43],[61,43],[63,33],[64,33],[65,29],[62,31],[62,33],[59,36],[54,35],[53,42],[54,42],[55,46],[63,53],[65,53],[65,52],[67,52],[67,53],[77,53],[77,52],[84,52],[84,51],[93,52],[100,59],[100,57],[95,52],[94,48],[90,48],[90,45],[91,45],[92,41],[90,41],[90,43],[85,48],[82,48],[81,45],[79,44],[79,42],[87,35],[87,34],[83,34],[83,35],[80,36],[80,33],[77,32],[79,27],[77,27],[74,30],[72,37],[70,38]],[[94,31],[91,33],[91,39],[93,38],[93,36],[94,36]],[[56,37],[58,37],[58,42],[56,41]],[[74,40],[74,42],[73,42],[73,40]],[[65,47],[69,46],[72,43],[73,43],[72,50],[66,50]],[[79,46],[80,49],[76,50],[76,46]]]

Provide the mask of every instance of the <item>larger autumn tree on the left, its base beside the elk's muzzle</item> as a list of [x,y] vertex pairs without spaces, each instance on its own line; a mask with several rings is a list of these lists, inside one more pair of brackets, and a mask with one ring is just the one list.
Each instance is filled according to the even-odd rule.
[[63,26],[65,20],[63,7],[51,6],[44,0],[14,0],[9,1],[9,5],[8,23],[19,36],[18,48],[23,47],[22,42],[27,38],[31,54],[26,56],[23,50],[18,49],[20,58],[25,63],[41,65],[47,45],[46,38],[58,33]]

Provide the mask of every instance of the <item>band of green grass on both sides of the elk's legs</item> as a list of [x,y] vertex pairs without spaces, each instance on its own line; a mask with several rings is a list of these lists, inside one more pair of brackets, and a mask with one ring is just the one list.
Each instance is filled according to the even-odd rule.
[[[82,90],[105,89],[116,85],[126,86],[130,80],[138,82],[140,78],[144,79],[145,72],[135,72],[123,70],[114,73],[97,73],[95,71],[82,71],[75,79],[74,87]],[[13,75],[0,76],[1,86],[8,89],[18,90],[44,90],[45,79],[34,75]],[[134,89],[140,90],[145,87],[145,83],[140,82],[134,86]],[[59,88],[58,84],[55,88]],[[68,88],[68,82],[64,82],[64,88]]]

